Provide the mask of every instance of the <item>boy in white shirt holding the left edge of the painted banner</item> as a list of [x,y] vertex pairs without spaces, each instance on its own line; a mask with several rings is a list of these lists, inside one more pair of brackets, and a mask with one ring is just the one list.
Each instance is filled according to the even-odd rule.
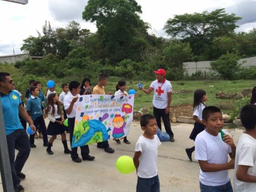
[[[70,92],[67,94],[67,96],[64,98],[64,109],[67,113],[68,118],[68,129],[70,131],[69,134],[69,141],[70,146],[72,146],[72,140],[73,140],[73,132],[75,127],[75,118],[76,118],[76,111],[77,111],[77,100],[79,98],[80,93],[80,83],[77,81],[72,81],[69,83],[68,88]],[[81,155],[83,160],[93,160],[95,157],[90,156],[90,150],[88,145],[80,146],[81,149]],[[79,158],[77,154],[77,147],[73,147],[71,151],[71,158],[76,163],[81,163],[82,159]]]

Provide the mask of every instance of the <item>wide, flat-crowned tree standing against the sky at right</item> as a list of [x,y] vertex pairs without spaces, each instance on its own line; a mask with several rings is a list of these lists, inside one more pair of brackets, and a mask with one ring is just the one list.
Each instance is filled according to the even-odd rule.
[[193,14],[185,13],[168,19],[164,29],[168,35],[189,42],[195,55],[207,51],[208,59],[211,60],[212,41],[216,37],[232,34],[238,27],[236,22],[240,19],[240,17],[235,17],[234,13],[225,13],[224,9]]

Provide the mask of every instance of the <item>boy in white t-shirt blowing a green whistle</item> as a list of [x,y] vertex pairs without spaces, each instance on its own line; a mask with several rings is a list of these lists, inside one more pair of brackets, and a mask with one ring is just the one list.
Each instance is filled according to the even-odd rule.
[[[233,191],[227,170],[234,169],[236,146],[229,135],[224,135],[224,141],[221,139],[219,128],[224,126],[222,113],[219,108],[209,106],[204,108],[202,119],[206,128],[195,139],[200,189],[202,192]],[[227,154],[231,157],[229,162]]]

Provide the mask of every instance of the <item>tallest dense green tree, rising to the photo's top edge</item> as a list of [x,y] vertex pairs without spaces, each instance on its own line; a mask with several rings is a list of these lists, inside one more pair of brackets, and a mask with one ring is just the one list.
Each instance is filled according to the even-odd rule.
[[125,58],[137,60],[147,46],[148,26],[140,20],[141,7],[135,0],[89,0],[82,17],[96,22],[101,42],[101,58],[118,63]]

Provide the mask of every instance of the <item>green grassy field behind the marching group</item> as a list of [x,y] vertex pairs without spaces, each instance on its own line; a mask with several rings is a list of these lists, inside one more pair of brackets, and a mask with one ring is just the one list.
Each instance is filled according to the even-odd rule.
[[[105,88],[106,92],[112,91],[115,93],[116,91],[116,84],[118,79],[110,78],[109,82]],[[145,88],[148,88],[152,81],[140,81],[144,85]],[[134,88],[137,91],[137,96],[135,97],[135,111],[138,111],[140,108],[152,108],[152,97],[153,93],[150,95],[145,94],[144,92],[138,90],[136,84],[139,83],[138,81],[127,80],[126,81],[126,91],[128,92],[131,88]],[[181,104],[191,104],[193,102],[193,94],[194,91],[198,88],[201,88],[206,91],[208,96],[208,101],[206,104],[208,106],[215,105],[215,106],[223,106],[223,104],[229,102],[232,104],[232,101],[237,99],[218,99],[216,98],[216,93],[219,92],[232,92],[237,93],[243,91],[245,89],[252,89],[256,84],[252,80],[236,80],[236,81],[172,81],[173,86],[173,96],[172,96],[172,106],[181,105]],[[92,85],[95,86],[96,82],[92,82]],[[190,91],[189,93],[175,93],[180,91]],[[57,87],[56,91],[61,93],[60,86]],[[229,108],[229,107],[227,107]],[[150,110],[151,111],[151,110]],[[224,108],[223,112],[229,113],[229,110]]]

